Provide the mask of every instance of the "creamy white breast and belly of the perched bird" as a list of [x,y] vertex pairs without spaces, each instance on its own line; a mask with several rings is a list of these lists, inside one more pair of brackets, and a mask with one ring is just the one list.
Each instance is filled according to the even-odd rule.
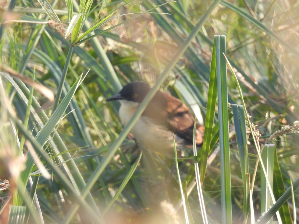
[[[138,108],[139,103],[120,100],[120,104],[120,121],[126,126]],[[173,133],[155,123],[151,118],[141,116],[132,128],[131,133],[145,150],[174,155]],[[182,139],[176,138],[176,145],[182,141]]]

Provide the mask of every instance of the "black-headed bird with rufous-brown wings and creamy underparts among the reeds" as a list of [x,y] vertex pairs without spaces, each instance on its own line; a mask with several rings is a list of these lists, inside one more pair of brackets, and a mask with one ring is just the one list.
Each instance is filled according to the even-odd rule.
[[[141,81],[126,84],[119,93],[106,101],[119,101],[120,122],[126,126],[151,87]],[[177,150],[185,150],[193,145],[195,119],[180,99],[157,91],[144,112],[133,126],[131,133],[141,148],[174,157],[173,137]],[[204,126],[196,123],[195,142],[202,145]]]

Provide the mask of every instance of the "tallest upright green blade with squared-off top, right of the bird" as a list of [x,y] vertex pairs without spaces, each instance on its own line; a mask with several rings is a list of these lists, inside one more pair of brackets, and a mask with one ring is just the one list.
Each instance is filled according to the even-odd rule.
[[225,36],[214,36],[218,91],[222,222],[232,223]]

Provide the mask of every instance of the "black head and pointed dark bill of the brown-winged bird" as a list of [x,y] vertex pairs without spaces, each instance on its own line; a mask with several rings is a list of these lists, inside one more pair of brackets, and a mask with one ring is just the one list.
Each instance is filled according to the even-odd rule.
[[130,82],[127,85],[125,85],[118,94],[107,98],[106,101],[123,99],[141,103],[150,89],[151,88],[147,83]]

